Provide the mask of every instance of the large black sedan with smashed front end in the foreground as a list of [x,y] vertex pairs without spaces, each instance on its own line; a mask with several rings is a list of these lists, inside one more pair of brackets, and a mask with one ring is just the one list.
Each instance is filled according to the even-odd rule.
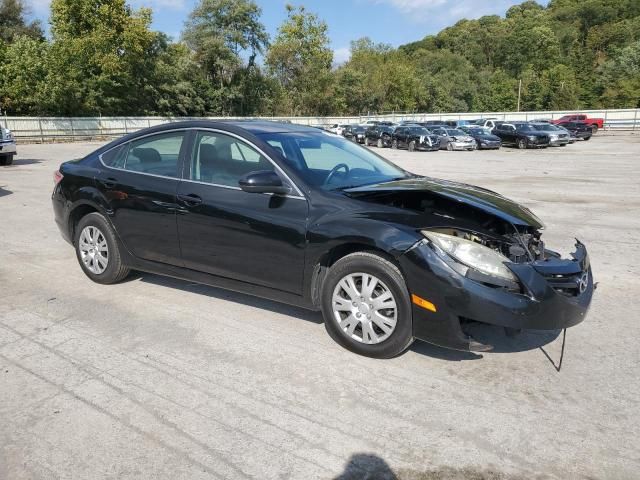
[[372,357],[415,338],[487,350],[468,322],[555,330],[592,298],[586,248],[547,250],[527,208],[314,128],[173,123],[54,179],[55,221],[91,280],[137,270],[321,310],[339,344]]

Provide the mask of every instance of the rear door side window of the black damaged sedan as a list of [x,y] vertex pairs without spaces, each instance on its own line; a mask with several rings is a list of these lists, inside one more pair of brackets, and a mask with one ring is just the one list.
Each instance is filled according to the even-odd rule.
[[178,160],[184,135],[185,132],[162,133],[130,142],[126,154],[124,150],[120,152],[113,166],[178,178]]

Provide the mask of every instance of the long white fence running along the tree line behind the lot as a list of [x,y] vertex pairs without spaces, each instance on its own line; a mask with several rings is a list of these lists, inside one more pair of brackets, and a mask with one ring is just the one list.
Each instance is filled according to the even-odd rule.
[[[584,113],[590,117],[603,118],[605,130],[640,131],[640,109],[582,110],[556,112],[483,112],[483,113],[402,113],[385,115],[362,115],[353,117],[252,117],[242,120],[261,119],[287,121],[303,125],[331,125],[334,123],[360,123],[366,120],[470,120],[496,118],[498,120],[526,121],[555,119],[572,113]],[[112,138],[143,128],[181,120],[240,120],[238,117],[0,117],[5,126],[22,142],[50,142],[55,140],[86,140]]]

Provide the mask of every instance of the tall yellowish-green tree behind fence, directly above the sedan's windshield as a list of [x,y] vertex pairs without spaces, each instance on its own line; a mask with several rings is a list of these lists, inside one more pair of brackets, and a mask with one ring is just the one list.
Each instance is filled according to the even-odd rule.
[[287,19],[269,48],[266,64],[285,96],[282,113],[324,115],[333,111],[331,63],[327,24],[304,7],[286,6]]

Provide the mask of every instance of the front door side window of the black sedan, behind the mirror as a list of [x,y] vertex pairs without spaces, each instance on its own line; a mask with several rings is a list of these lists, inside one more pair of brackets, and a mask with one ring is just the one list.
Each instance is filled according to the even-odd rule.
[[216,132],[198,132],[189,178],[197,182],[237,187],[244,175],[273,170],[273,164],[241,140]]

